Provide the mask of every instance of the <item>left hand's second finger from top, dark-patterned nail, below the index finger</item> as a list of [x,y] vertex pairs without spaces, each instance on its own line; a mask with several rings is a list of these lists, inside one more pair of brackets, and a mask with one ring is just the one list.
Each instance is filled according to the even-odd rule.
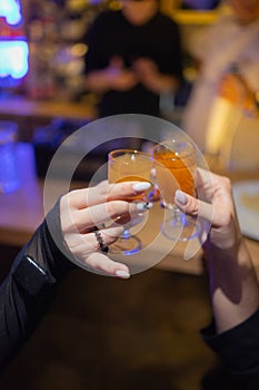
[[72,224],[80,231],[91,230],[93,226],[110,224],[122,218],[129,221],[139,213],[150,209],[152,204],[147,202],[111,201],[92,207],[70,213]]

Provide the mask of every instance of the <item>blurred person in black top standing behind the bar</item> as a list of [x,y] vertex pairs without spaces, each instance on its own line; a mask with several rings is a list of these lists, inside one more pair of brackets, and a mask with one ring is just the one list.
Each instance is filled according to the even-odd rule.
[[99,95],[99,114],[160,116],[160,97],[182,80],[178,25],[159,10],[159,0],[122,0],[91,26],[86,87]]

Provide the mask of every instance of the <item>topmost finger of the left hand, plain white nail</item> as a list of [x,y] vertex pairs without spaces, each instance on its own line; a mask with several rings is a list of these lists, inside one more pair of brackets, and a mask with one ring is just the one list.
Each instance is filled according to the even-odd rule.
[[109,201],[137,196],[149,189],[150,186],[151,184],[148,182],[123,182],[117,184],[103,182],[94,187],[72,191],[67,197],[69,207],[80,209]]

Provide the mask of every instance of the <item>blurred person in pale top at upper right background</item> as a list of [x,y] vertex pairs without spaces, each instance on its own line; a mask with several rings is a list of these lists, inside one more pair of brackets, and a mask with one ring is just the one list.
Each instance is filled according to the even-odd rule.
[[199,30],[189,42],[198,76],[181,126],[202,150],[218,96],[250,116],[257,115],[259,0],[225,0],[225,4],[228,12],[222,11],[213,25]]

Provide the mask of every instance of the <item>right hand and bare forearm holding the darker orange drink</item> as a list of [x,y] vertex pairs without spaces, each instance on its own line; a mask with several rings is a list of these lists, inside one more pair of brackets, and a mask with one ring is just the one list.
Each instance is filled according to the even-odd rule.
[[187,214],[209,222],[203,242],[217,331],[223,332],[247,320],[259,308],[255,269],[240,233],[231,183],[227,177],[197,169],[200,199],[180,191],[177,205]]

